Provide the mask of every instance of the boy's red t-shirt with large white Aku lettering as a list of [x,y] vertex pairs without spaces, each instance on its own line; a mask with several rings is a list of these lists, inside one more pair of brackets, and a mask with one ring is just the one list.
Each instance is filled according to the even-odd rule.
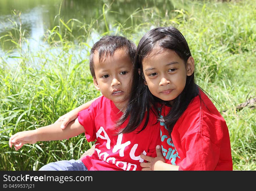
[[150,112],[148,125],[140,133],[138,130],[142,125],[131,133],[115,135],[113,127],[121,115],[122,112],[114,103],[104,96],[94,101],[88,109],[79,112],[78,120],[86,131],[87,141],[97,139],[93,155],[82,159],[88,170],[141,170],[140,163],[144,161],[140,157],[141,153],[156,157],[156,146],[160,144],[157,116]]

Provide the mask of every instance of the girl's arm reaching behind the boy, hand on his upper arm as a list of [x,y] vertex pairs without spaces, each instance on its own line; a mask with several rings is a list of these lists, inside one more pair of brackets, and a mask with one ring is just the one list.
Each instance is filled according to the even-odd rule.
[[[100,96],[99,96],[99,97],[100,97]],[[73,120],[75,120],[75,119],[77,118],[77,114],[78,114],[80,111],[82,111],[82,110],[87,109],[88,107],[90,107],[90,105],[93,103],[93,101],[95,101],[95,100],[98,99],[99,97],[94,98],[93,100],[88,101],[88,102],[84,103],[83,105],[81,105],[81,106],[79,106],[79,107],[77,107],[77,108],[71,110],[70,112],[68,112],[68,113],[66,113],[66,114],[64,114],[64,115],[62,115],[61,117],[58,118],[58,120],[57,120],[55,123],[57,123],[57,122],[62,122],[61,128],[62,128],[62,129],[65,129],[66,126],[67,126],[67,124],[68,124],[69,122],[71,122],[71,121],[73,121]]]

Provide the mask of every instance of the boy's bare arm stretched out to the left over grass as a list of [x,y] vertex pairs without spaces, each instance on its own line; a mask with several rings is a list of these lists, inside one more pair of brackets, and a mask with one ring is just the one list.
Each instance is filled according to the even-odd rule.
[[38,141],[63,140],[85,132],[78,119],[70,122],[65,129],[61,129],[60,126],[61,122],[58,122],[35,130],[18,132],[10,137],[9,146],[12,147],[13,145],[17,151],[24,144],[34,144]]

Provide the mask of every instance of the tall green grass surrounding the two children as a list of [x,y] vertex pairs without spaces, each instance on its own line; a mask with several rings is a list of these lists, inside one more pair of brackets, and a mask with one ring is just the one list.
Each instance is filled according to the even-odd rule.
[[[13,22],[10,33],[0,37],[2,47],[11,43],[19,52],[6,51],[0,57],[0,170],[38,170],[56,160],[78,159],[90,148],[82,134],[25,145],[19,151],[9,148],[8,140],[18,131],[51,124],[99,95],[88,67],[93,33],[99,38],[124,35],[138,44],[150,28],[168,25],[185,36],[195,59],[196,81],[216,100],[227,122],[233,169],[256,170],[255,108],[235,108],[246,98],[256,97],[256,5],[249,0],[180,2],[175,1],[176,11],[169,10],[165,18],[155,7],[138,8],[123,23],[107,19],[111,6],[105,6],[104,14],[90,23],[64,21],[58,15],[59,25],[45,33],[49,46],[36,53],[26,45],[26,31]],[[97,33],[99,26],[108,24],[114,26],[113,31],[106,27],[104,33]],[[82,34],[72,33],[76,27]],[[8,57],[16,59],[15,65],[5,62]]]

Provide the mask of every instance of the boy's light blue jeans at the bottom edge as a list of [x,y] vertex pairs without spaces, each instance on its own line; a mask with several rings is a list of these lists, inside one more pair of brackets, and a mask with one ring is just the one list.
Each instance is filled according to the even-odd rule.
[[44,165],[41,167],[39,170],[83,170],[87,171],[88,169],[86,166],[83,164],[81,160],[60,160],[54,163],[49,163],[47,165]]

